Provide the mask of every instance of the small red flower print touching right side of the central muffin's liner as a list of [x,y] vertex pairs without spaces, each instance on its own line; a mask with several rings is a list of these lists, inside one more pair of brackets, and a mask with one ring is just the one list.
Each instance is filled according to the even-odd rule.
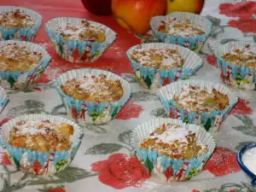
[[131,100],[127,102],[124,108],[117,114],[115,119],[131,119],[131,118],[138,118],[140,113],[143,112],[143,107],[140,105],[135,104]]

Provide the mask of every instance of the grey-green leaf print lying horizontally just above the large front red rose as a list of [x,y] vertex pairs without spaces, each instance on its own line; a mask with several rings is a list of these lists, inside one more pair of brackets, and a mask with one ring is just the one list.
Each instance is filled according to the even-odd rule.
[[124,148],[124,146],[116,143],[100,143],[88,148],[84,154],[113,154],[121,148]]

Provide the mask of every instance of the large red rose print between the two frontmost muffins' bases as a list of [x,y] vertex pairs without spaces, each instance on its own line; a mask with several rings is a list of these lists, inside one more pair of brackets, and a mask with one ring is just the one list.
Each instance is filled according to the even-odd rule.
[[150,177],[139,160],[126,154],[112,154],[108,160],[90,165],[92,172],[99,172],[99,180],[114,189],[139,187]]

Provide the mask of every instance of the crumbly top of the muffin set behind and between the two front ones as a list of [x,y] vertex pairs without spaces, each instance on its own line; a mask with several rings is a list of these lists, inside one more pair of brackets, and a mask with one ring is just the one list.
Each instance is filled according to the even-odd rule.
[[67,96],[86,102],[117,102],[124,94],[118,79],[107,79],[103,74],[67,80],[61,90]]

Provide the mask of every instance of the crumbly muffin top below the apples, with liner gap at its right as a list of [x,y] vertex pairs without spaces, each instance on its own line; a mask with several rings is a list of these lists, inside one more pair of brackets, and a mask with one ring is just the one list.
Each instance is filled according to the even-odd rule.
[[131,59],[144,67],[161,70],[181,68],[184,64],[184,59],[177,49],[167,48],[135,49]]

